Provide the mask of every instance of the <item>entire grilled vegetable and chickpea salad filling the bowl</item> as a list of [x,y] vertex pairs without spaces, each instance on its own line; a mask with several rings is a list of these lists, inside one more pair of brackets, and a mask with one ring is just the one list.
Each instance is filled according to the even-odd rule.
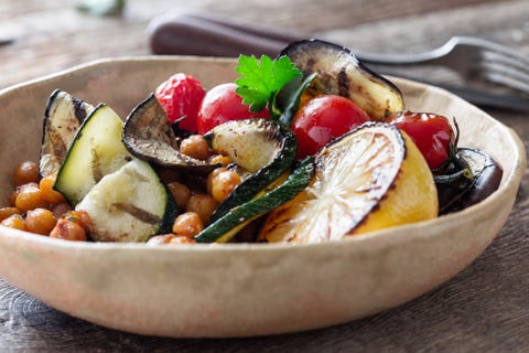
[[56,90],[41,158],[14,171],[3,226],[69,240],[317,243],[477,203],[501,168],[456,120],[406,110],[345,47],[239,57],[234,83],[169,77],[122,119]]

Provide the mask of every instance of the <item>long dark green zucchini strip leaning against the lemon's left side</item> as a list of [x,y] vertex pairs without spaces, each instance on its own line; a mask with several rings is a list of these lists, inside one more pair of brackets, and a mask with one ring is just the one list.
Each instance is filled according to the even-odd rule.
[[[294,199],[312,181],[314,159],[305,158],[284,180],[284,175],[273,182],[270,188],[261,190],[256,197],[231,208],[220,218],[210,223],[195,236],[198,243],[226,243],[240,229],[257,217]],[[284,181],[284,182],[283,182]],[[278,183],[279,186],[276,186]]]

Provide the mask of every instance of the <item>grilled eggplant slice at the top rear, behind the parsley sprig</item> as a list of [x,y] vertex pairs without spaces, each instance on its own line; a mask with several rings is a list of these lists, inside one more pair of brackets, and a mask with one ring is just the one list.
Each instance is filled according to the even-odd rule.
[[307,88],[309,94],[349,98],[374,120],[384,120],[404,109],[399,88],[370,71],[346,47],[321,40],[303,40],[288,45],[281,55],[289,56],[305,77],[317,73]]

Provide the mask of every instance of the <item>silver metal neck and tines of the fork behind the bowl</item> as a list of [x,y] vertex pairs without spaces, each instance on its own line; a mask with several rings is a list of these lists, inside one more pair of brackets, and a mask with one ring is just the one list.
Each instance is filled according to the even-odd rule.
[[453,36],[429,52],[408,55],[359,53],[357,56],[368,65],[450,67],[464,82],[481,86],[493,83],[504,89],[492,93],[485,88],[456,87],[443,83],[436,83],[438,86],[444,86],[467,98],[472,96],[471,100],[481,105],[529,110],[529,57],[490,41]]

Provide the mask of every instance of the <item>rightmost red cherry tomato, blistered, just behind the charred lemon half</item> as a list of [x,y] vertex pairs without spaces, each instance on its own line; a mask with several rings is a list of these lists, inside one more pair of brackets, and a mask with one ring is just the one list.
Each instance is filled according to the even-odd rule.
[[399,111],[388,122],[402,129],[415,142],[430,169],[441,167],[449,157],[450,139],[454,136],[449,119],[430,113]]

